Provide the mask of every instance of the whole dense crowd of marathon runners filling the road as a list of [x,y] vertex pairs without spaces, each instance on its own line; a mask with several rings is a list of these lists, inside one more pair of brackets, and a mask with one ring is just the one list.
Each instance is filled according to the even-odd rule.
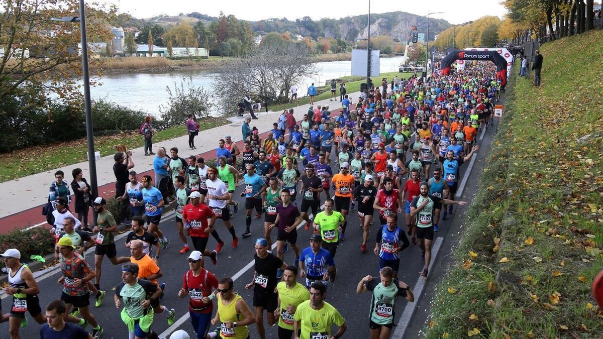
[[[414,300],[411,287],[398,280],[400,252],[420,252],[420,276],[429,277],[438,223],[455,213],[455,204],[465,204],[455,200],[459,168],[478,150],[479,131],[492,124],[500,90],[496,70],[488,63],[449,76],[434,74],[426,82],[417,77],[391,82],[384,78],[359,98],[345,95],[336,114],[328,107],[310,106],[293,126],[288,122],[294,112],[288,110],[267,138],[253,129],[240,149],[226,136],[218,141],[215,167],[201,157],[183,159],[177,148],[169,150],[171,156],[157,148],[155,177],[139,178],[131,171],[130,154],[118,153],[116,176],[122,179],[118,177],[117,198],[129,206],[131,226],[125,244],[116,244],[114,238],[122,216],[113,216],[104,198],[89,197],[81,170],[74,170],[74,196],[85,195],[98,214],[98,226],[86,232],[87,220],[68,209],[71,191],[57,171],[51,186],[50,232],[62,270],[62,291],[57,289],[57,300],[42,309],[40,289],[27,265],[21,264],[21,253],[7,250],[1,256],[10,272],[10,287],[4,291],[12,300],[10,312],[0,320],[9,322],[13,339],[27,326],[25,312],[41,324],[41,338],[99,338],[101,325],[119,325],[117,320],[96,320],[90,295],[98,308],[110,293],[116,313],[121,312],[123,337],[127,331],[130,339],[157,338],[153,323],[172,325],[175,315],[186,311],[200,339],[244,339],[250,332],[264,338],[264,317],[269,326],[277,325],[279,338],[339,338],[346,332],[346,312],[324,299],[336,277],[346,274],[336,265],[337,249],[346,242],[358,249],[358,256],[369,255],[367,246],[376,256],[367,273],[378,268],[379,276],[362,278],[356,293],[373,293],[368,332],[371,338],[387,338],[397,297]],[[158,182],[167,184],[155,187]],[[239,212],[235,192],[245,197],[245,227],[231,223]],[[168,204],[175,204],[175,225],[162,223]],[[346,236],[352,225],[362,228],[361,238]],[[188,299],[188,309],[185,302],[163,302],[159,258],[170,250],[162,232],[166,227],[177,227],[179,251],[188,255],[189,270],[177,290],[178,297]],[[247,284],[218,278],[225,231],[233,249],[239,247],[239,236],[256,238],[254,274]],[[130,256],[117,256],[118,246],[125,246]],[[91,247],[93,258],[84,256]],[[121,267],[118,286],[101,285],[105,256]],[[236,293],[242,288],[253,289],[253,300]],[[185,337],[182,331],[172,334]]]

